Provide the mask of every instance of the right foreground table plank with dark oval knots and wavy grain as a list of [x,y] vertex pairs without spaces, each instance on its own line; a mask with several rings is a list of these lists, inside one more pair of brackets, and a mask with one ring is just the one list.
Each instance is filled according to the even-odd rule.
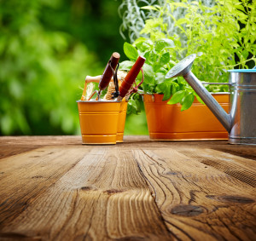
[[[202,163],[197,159],[202,150],[133,151],[166,226],[180,240],[255,240],[253,180],[241,181]],[[236,169],[251,175],[240,164]]]

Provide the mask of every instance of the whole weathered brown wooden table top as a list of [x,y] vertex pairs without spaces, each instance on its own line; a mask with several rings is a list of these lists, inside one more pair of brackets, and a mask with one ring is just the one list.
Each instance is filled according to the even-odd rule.
[[256,148],[0,137],[0,240],[256,240]]

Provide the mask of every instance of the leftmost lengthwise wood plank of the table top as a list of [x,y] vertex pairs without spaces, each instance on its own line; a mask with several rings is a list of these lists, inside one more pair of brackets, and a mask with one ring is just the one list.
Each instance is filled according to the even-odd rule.
[[[79,149],[80,150],[80,149]],[[55,184],[86,150],[42,147],[0,161],[0,228],[20,215],[33,199]],[[68,158],[72,156],[73,158]]]

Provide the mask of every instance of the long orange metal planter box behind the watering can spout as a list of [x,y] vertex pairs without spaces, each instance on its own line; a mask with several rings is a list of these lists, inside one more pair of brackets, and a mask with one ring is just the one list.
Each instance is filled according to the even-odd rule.
[[[229,112],[229,95],[213,94],[215,100]],[[168,105],[163,95],[144,95],[144,106],[151,140],[206,141],[227,140],[228,132],[207,106],[195,99],[181,112],[181,105]]]

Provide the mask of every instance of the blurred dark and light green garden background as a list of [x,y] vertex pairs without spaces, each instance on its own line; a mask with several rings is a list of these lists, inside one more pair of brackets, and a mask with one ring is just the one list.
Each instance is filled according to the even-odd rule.
[[[84,77],[121,61],[115,0],[0,0],[0,135],[79,135]],[[145,113],[125,135],[148,134]]]

